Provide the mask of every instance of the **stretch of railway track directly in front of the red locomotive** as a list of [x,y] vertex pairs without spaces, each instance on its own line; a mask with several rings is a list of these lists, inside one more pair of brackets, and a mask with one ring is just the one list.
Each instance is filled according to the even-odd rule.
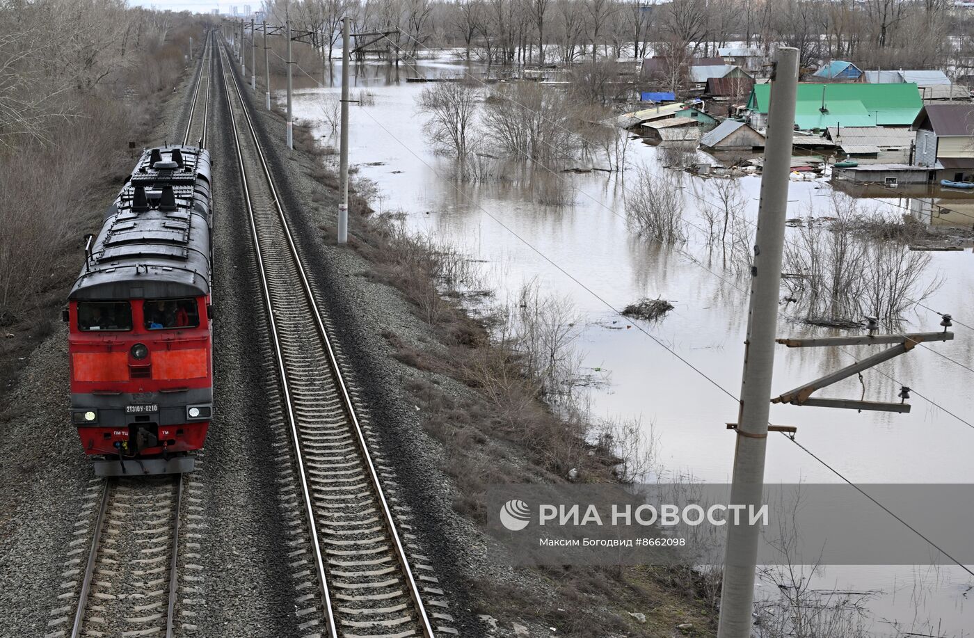
[[71,638],[171,638],[181,498],[178,474],[105,481]]

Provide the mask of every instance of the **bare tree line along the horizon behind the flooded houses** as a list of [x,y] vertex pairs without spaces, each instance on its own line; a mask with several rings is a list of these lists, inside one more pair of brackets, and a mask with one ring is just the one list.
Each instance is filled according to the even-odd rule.
[[501,64],[713,56],[729,45],[796,47],[803,66],[944,68],[970,54],[967,10],[950,0],[270,0],[265,10],[315,32],[322,56],[337,55],[345,15],[354,32],[394,31],[378,46],[401,55],[450,47]]

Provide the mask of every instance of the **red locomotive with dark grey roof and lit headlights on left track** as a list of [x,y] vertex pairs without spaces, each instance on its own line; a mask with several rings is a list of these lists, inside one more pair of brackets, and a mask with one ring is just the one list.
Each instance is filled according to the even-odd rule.
[[209,153],[143,152],[68,296],[71,421],[98,475],[189,471],[212,416]]

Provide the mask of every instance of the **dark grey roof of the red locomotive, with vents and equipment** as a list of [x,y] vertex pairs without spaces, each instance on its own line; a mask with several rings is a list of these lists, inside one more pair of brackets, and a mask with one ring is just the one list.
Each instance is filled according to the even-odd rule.
[[209,153],[146,149],[86,251],[70,299],[209,293]]

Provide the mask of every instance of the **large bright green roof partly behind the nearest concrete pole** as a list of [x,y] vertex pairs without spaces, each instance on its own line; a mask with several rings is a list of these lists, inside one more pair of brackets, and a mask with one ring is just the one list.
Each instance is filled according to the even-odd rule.
[[[771,87],[756,84],[747,100],[755,129],[768,126]],[[800,84],[795,125],[800,131],[829,127],[909,127],[923,106],[915,83]]]

